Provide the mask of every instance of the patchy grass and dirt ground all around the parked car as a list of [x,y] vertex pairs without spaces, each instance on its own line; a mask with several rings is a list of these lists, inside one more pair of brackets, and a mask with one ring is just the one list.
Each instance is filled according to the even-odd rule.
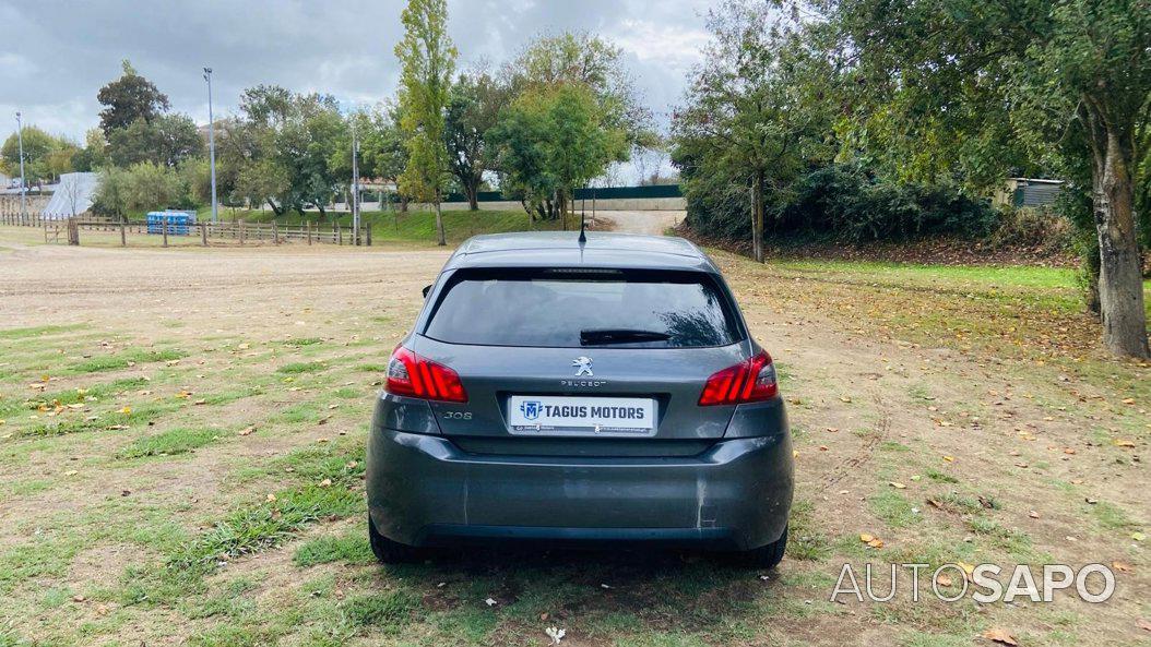
[[[87,406],[104,415],[146,402],[154,415],[137,425],[125,414],[123,430],[45,436],[32,430],[52,405],[8,414],[0,626],[10,637],[0,630],[0,646],[327,644],[320,633],[344,637],[333,644],[546,645],[551,625],[566,629],[563,645],[992,645],[996,630],[1020,645],[1151,638],[1149,402],[1095,372],[900,334],[868,314],[867,292],[845,309],[843,291],[856,288],[836,275],[722,253],[753,334],[780,369],[794,426],[795,546],[778,572],[694,556],[604,567],[566,554],[398,571],[359,559],[299,565],[305,545],[361,536],[360,517],[343,515],[221,565],[200,588],[142,603],[122,591],[134,567],[305,478],[277,461],[361,444],[380,379],[371,367],[387,362],[449,253],[121,251],[15,238],[0,231],[0,332],[52,328],[13,333],[0,347],[0,402],[143,377]],[[139,348],[182,356],[85,372],[86,362]],[[313,364],[321,368],[306,372]],[[1122,370],[1151,379],[1145,364]],[[233,393],[245,385],[257,386]],[[227,438],[178,456],[123,459],[142,440],[197,425]],[[257,431],[244,433],[250,425]],[[109,530],[117,524],[137,531]],[[181,530],[169,537],[169,526]],[[891,603],[829,601],[844,563],[862,572],[908,562],[996,562],[1005,573],[1015,563],[1100,562],[1115,571],[1116,591],[1102,604],[1069,594],[985,606],[902,593]],[[877,579],[886,591],[889,576]],[[416,609],[398,629],[349,619],[348,633],[331,633],[320,617],[358,617],[353,593],[409,590]],[[235,600],[204,610],[221,595]],[[236,610],[238,600],[249,607]]]

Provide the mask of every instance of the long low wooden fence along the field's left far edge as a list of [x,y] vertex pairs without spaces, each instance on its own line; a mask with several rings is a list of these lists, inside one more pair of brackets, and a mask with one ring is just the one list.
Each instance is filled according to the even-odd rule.
[[281,225],[272,223],[245,223],[244,221],[220,222],[220,223],[192,223],[177,224],[165,221],[163,226],[152,225],[152,231],[147,223],[143,222],[116,222],[109,218],[96,216],[82,216],[76,218],[45,218],[41,216],[21,216],[18,214],[0,214],[0,224],[37,226],[44,229],[46,242],[56,242],[67,232],[70,245],[79,245],[79,232],[100,231],[120,234],[120,244],[127,246],[129,237],[154,236],[162,239],[161,245],[167,247],[168,239],[198,240],[200,245],[208,246],[215,242],[236,242],[245,245],[249,242],[280,245],[283,242],[302,242],[305,245],[372,245],[372,228],[361,226],[359,240],[351,226],[333,224],[331,226],[303,223],[297,225]]

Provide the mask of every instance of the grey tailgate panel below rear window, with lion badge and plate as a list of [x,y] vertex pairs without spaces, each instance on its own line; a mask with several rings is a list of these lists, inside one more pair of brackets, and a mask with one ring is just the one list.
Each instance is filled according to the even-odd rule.
[[410,344],[416,353],[451,367],[467,391],[467,402],[432,403],[440,430],[503,438],[721,438],[734,407],[700,407],[700,393],[711,373],[748,354],[744,342],[541,348],[413,336]]

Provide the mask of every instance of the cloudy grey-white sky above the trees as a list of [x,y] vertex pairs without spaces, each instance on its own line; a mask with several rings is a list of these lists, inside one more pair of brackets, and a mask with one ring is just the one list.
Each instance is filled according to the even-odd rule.
[[[449,0],[459,67],[498,64],[533,36],[600,33],[624,48],[643,101],[661,126],[707,39],[701,0]],[[243,88],[279,84],[374,102],[395,93],[392,48],[401,0],[166,0],[161,2],[0,0],[0,141],[25,124],[83,141],[98,125],[97,91],[129,59],[171,101],[207,122],[200,68],[214,68],[218,115]]]

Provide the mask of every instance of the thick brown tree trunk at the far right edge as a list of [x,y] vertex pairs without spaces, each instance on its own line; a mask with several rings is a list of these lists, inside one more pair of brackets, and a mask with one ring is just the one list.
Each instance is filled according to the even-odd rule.
[[1095,148],[1093,206],[1099,233],[1099,306],[1103,344],[1116,355],[1148,356],[1146,310],[1133,213],[1130,139],[1106,129]]

